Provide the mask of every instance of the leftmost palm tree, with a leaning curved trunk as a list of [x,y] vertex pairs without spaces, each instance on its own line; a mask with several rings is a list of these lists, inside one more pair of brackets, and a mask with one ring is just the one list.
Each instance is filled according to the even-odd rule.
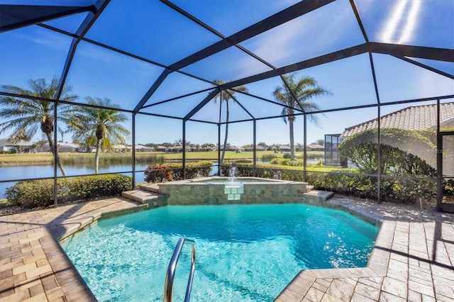
[[[54,152],[54,108],[57,106],[58,119],[67,123],[72,118],[74,106],[68,104],[45,101],[43,99],[53,99],[56,95],[59,80],[54,77],[50,84],[45,79],[29,79],[30,90],[20,87],[4,85],[3,90],[11,94],[21,94],[23,97],[0,96],[0,119],[7,120],[0,123],[0,133],[6,130],[12,130],[9,140],[17,142],[18,140],[31,140],[40,130],[45,134],[49,142],[50,152]],[[35,96],[40,99],[28,99],[26,96]],[[72,94],[72,87],[64,85],[60,101],[77,101],[78,96]],[[60,127],[57,128],[63,133]],[[60,156],[55,150],[56,164],[60,168],[63,176],[66,176],[65,168],[60,162]]]

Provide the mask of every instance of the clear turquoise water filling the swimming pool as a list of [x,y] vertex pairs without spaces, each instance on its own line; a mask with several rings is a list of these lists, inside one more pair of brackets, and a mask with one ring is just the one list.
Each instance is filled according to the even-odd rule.
[[[301,269],[365,267],[378,228],[303,204],[166,206],[101,220],[62,243],[99,301],[162,301],[180,237],[196,242],[192,301],[273,301]],[[183,301],[190,245],[178,262]]]

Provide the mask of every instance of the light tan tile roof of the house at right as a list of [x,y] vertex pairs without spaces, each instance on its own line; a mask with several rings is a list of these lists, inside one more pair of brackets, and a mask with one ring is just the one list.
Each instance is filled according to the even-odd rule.
[[[437,105],[409,106],[382,116],[382,128],[400,128],[404,130],[423,130],[437,125]],[[454,120],[454,102],[440,104],[440,123]],[[366,129],[377,128],[377,118],[345,128],[341,137],[348,138]]]

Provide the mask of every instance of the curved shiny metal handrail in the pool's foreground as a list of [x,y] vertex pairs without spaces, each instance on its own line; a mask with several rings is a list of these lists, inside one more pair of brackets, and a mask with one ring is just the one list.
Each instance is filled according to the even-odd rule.
[[167,268],[167,274],[165,276],[164,284],[164,302],[172,302],[173,292],[173,279],[175,277],[175,269],[177,269],[177,262],[179,254],[182,252],[184,243],[192,245],[191,255],[191,272],[189,272],[189,280],[187,281],[186,295],[184,296],[184,302],[189,302],[189,296],[191,296],[192,279],[194,278],[194,270],[196,268],[196,242],[188,238],[179,238],[175,250],[173,251],[172,259],[170,259],[169,267]]

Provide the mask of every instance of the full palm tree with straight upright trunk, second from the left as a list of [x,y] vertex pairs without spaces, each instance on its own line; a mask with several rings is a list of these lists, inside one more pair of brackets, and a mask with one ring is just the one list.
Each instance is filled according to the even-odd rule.
[[128,121],[128,117],[121,111],[105,108],[120,108],[116,104],[111,104],[110,99],[87,96],[86,100],[89,105],[104,108],[84,106],[68,125],[73,132],[73,140],[95,145],[94,172],[98,174],[101,146],[106,149],[116,142],[126,145],[125,136],[130,133],[121,123]]

